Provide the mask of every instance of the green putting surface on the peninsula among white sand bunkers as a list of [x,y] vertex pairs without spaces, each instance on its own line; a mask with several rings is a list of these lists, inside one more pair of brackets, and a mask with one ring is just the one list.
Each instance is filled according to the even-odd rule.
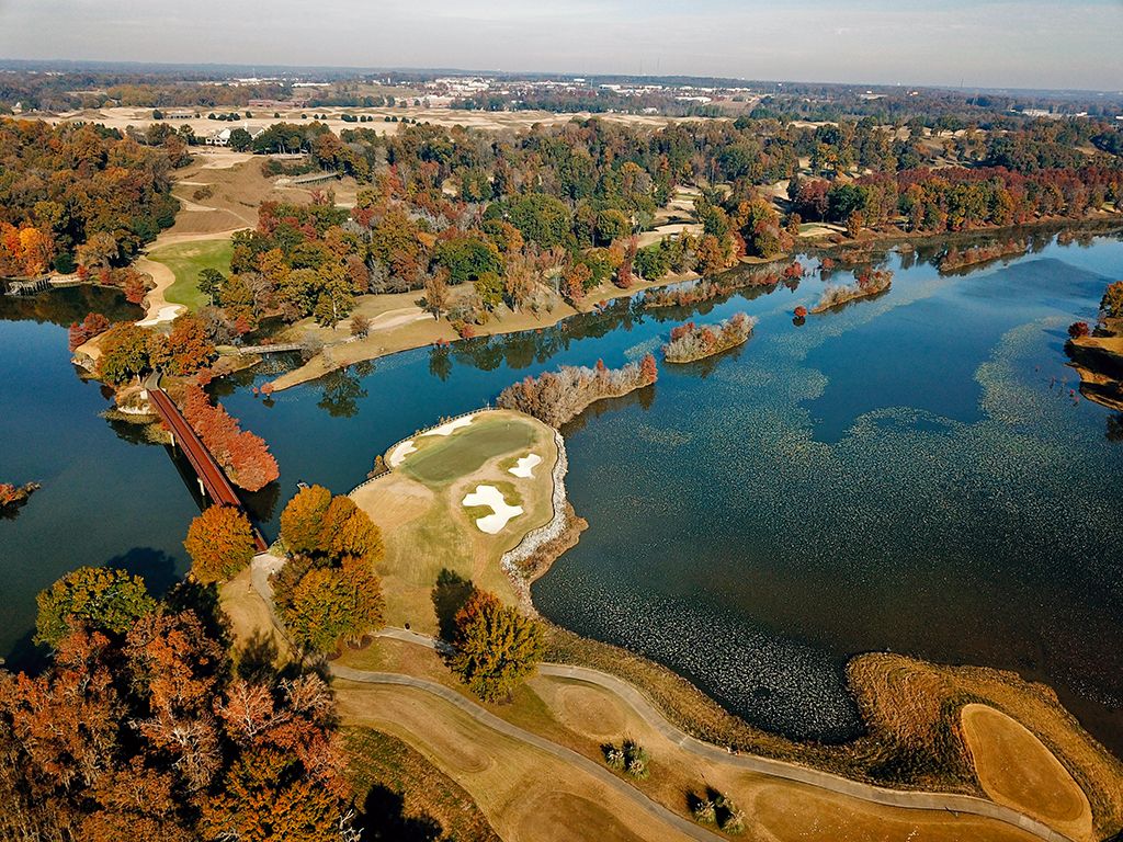
[[451,436],[419,436],[413,441],[418,451],[405,457],[399,470],[429,486],[446,485],[489,459],[529,448],[536,439],[535,428],[521,419],[477,418]]

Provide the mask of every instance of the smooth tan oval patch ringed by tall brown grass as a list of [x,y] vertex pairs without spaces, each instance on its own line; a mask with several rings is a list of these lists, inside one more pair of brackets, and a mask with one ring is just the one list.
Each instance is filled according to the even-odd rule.
[[987,705],[966,705],[964,738],[983,789],[1074,839],[1092,838],[1092,808],[1080,787],[1021,723]]

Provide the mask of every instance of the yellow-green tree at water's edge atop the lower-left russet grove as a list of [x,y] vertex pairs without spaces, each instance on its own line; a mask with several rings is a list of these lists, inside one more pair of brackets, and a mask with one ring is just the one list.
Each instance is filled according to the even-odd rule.
[[66,574],[36,602],[35,642],[49,647],[77,626],[124,634],[156,606],[144,579],[106,567],[80,567]]

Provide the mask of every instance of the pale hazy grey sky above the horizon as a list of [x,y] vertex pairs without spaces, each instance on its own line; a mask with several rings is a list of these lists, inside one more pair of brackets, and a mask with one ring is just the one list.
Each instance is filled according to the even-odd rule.
[[0,0],[0,58],[1123,89],[1123,0]]

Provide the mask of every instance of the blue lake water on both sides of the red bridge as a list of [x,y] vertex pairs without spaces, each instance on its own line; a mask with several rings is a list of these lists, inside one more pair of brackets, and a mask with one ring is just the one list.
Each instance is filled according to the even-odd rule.
[[[1067,326],[1123,276],[1123,241],[1039,234],[1024,257],[953,276],[932,256],[885,255],[887,294],[802,326],[792,311],[818,302],[818,275],[690,310],[618,302],[268,400],[250,386],[281,360],[214,391],[281,465],[247,501],[275,533],[296,482],[347,491],[394,441],[514,379],[618,366],[681,321],[748,312],[747,345],[663,364],[654,387],[564,429],[591,525],[535,584],[541,612],[793,736],[856,734],[844,662],[892,650],[1048,681],[1123,753],[1123,442],[1107,436],[1117,413],[1072,397],[1063,354]],[[0,479],[44,484],[0,522],[0,655],[73,566],[124,559],[166,584],[197,511],[167,451],[99,418],[107,401],[66,357],[64,328],[0,324]]]

